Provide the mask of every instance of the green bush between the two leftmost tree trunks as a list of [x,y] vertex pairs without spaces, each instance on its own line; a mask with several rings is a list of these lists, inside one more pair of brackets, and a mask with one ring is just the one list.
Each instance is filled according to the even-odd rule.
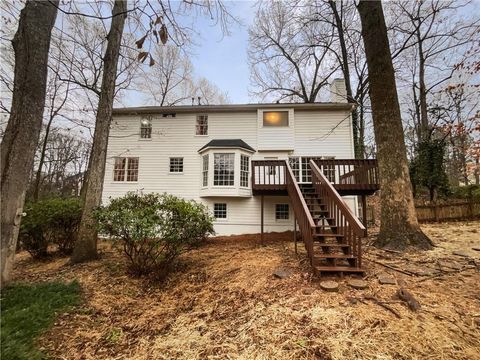
[[48,245],[56,244],[63,254],[70,254],[75,244],[82,216],[79,199],[47,199],[25,206],[20,225],[20,242],[34,258],[48,255]]

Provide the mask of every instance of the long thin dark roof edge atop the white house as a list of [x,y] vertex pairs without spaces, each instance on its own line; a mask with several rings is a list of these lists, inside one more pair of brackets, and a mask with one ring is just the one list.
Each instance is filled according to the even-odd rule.
[[295,109],[295,110],[344,110],[350,111],[351,103],[264,103],[264,104],[225,104],[225,105],[177,105],[177,106],[140,106],[113,109],[113,115],[164,114],[164,113],[208,113],[257,111],[257,109]]

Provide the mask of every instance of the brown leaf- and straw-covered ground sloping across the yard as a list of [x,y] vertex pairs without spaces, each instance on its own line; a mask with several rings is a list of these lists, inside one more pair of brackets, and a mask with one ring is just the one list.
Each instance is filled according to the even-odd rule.
[[[129,277],[107,243],[100,260],[75,266],[20,254],[15,277],[82,286],[83,305],[40,340],[53,358],[480,359],[480,252],[472,249],[480,246],[480,222],[423,227],[432,251],[365,244],[366,290],[345,277],[336,279],[338,293],[322,291],[289,233],[270,234],[266,246],[255,235],[212,239],[184,255],[163,284]],[[274,278],[278,268],[291,275]],[[380,285],[381,274],[400,285]],[[400,286],[420,310],[394,296]]]

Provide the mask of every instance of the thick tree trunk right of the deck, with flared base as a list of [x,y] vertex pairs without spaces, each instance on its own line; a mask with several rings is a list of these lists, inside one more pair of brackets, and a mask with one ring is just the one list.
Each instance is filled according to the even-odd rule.
[[381,225],[376,244],[431,248],[420,229],[408,171],[400,105],[382,3],[361,0],[358,11],[367,57],[381,186]]

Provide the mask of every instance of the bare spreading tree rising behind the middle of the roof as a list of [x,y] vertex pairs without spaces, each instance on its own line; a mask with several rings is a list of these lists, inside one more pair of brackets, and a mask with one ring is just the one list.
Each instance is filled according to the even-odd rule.
[[257,11],[248,54],[253,93],[262,99],[318,101],[339,69],[331,51],[334,27],[319,21],[306,24],[304,11],[280,1]]

